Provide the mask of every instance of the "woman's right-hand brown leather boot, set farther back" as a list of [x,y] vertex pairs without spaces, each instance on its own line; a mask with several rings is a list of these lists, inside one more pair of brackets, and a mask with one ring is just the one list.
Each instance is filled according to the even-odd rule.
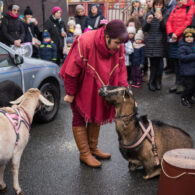
[[88,123],[87,134],[88,134],[89,147],[90,147],[91,153],[98,158],[109,159],[111,157],[111,154],[104,153],[100,149],[97,148],[99,132],[100,132],[99,125],[95,123]]

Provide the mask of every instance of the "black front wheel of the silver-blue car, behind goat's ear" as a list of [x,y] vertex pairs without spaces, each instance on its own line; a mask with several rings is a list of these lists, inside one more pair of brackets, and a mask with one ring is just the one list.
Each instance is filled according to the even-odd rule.
[[60,105],[60,89],[54,83],[44,83],[40,87],[42,95],[50,102],[54,103],[54,106],[41,105],[41,110],[36,114],[36,120],[38,122],[52,121],[58,113]]

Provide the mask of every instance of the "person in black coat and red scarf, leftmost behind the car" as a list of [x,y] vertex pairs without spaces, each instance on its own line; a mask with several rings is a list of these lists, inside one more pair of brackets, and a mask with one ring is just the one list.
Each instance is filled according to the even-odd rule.
[[8,13],[5,14],[1,24],[1,41],[6,45],[15,45],[20,47],[24,41],[25,30],[22,21],[19,19],[18,5],[10,5]]

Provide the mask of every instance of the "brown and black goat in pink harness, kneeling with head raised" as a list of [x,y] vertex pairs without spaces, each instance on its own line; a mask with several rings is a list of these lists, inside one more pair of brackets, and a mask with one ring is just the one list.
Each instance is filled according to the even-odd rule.
[[[190,135],[184,130],[154,120],[151,121],[154,143],[146,136],[140,144],[135,144],[144,134],[140,122],[147,129],[150,121],[146,116],[137,117],[137,107],[131,91],[126,87],[103,86],[99,89],[99,95],[115,108],[120,152],[129,161],[130,171],[143,166],[146,172],[144,179],[160,174],[160,162],[166,151],[193,147]],[[148,136],[152,137],[151,134]],[[136,147],[132,148],[132,145]]]

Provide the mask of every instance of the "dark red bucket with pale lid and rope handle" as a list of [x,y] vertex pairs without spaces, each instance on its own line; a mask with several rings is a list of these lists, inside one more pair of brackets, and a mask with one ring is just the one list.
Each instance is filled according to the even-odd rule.
[[158,195],[195,195],[195,149],[174,149],[163,155]]

